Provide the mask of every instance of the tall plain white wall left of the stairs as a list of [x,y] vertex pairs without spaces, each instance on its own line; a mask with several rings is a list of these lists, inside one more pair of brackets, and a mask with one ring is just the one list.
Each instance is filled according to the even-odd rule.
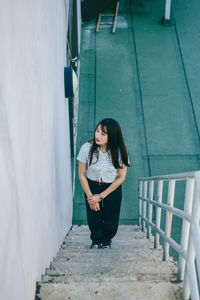
[[3,300],[34,299],[71,225],[66,29],[65,0],[0,2]]

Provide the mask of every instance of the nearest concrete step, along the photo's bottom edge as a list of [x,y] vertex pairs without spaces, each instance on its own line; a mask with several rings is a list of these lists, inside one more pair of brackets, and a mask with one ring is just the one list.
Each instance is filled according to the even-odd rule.
[[177,300],[181,286],[162,281],[43,284],[42,300]]

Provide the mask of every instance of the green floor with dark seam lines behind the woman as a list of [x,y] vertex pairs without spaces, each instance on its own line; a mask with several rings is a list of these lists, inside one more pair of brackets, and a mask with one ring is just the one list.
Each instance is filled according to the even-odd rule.
[[[115,35],[82,28],[77,151],[101,119],[120,123],[131,160],[122,224],[137,223],[139,177],[200,168],[200,2],[174,1],[172,27],[163,15],[164,1],[121,0]],[[86,223],[77,176],[73,222]]]

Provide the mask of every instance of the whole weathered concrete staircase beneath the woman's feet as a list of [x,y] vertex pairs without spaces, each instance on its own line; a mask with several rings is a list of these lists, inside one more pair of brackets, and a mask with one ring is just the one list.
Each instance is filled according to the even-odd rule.
[[120,225],[112,249],[91,250],[87,226],[73,226],[38,283],[36,299],[182,299],[177,265],[138,226]]

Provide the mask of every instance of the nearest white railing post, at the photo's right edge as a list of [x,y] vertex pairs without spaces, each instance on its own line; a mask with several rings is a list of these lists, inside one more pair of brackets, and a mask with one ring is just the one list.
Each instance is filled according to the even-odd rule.
[[[183,284],[183,298],[189,299],[190,293],[192,299],[198,299],[198,282],[197,277],[193,276],[189,281],[188,269],[195,270],[195,248],[194,241],[195,237],[192,236],[192,224],[197,224],[199,226],[199,215],[200,215],[200,172],[198,172],[195,176],[195,189],[194,189],[194,198],[192,204],[192,218],[190,225],[190,233],[189,233],[189,241],[188,241],[188,249],[187,249],[187,263],[186,263],[186,271],[184,276],[184,284]],[[192,287],[190,285],[192,284]]]

